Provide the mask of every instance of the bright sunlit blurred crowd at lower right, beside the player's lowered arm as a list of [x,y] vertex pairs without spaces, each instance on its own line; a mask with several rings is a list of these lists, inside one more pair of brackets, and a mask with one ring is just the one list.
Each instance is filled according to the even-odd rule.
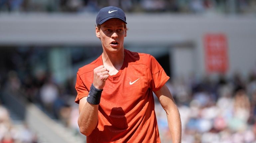
[[[256,143],[256,70],[244,79],[219,76],[169,83],[182,120],[183,143]],[[166,115],[156,106],[164,139],[169,136]]]

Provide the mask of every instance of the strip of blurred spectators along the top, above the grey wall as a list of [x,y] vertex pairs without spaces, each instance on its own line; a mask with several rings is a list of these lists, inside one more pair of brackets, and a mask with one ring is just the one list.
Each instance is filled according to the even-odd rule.
[[245,14],[256,12],[255,0],[0,0],[0,12],[98,12],[105,6],[126,12]]

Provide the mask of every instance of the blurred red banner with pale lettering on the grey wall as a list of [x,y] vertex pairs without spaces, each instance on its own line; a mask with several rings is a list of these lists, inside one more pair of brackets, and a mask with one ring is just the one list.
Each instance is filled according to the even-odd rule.
[[205,67],[209,73],[228,70],[228,45],[224,34],[206,34],[203,37]]

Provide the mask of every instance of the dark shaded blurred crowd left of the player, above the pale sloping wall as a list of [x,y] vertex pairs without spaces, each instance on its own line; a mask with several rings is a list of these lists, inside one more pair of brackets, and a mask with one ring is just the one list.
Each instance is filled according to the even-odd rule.
[[57,83],[49,72],[47,54],[44,48],[2,49],[0,93],[18,99],[23,97],[28,103],[35,103],[52,119],[65,118],[71,105],[75,104],[75,78]]

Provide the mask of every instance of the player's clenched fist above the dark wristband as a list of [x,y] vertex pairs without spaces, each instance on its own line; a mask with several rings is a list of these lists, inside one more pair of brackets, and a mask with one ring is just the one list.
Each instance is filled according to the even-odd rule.
[[106,80],[108,79],[108,72],[107,68],[103,65],[96,67],[93,70],[93,85],[96,89],[103,89],[105,86]]

